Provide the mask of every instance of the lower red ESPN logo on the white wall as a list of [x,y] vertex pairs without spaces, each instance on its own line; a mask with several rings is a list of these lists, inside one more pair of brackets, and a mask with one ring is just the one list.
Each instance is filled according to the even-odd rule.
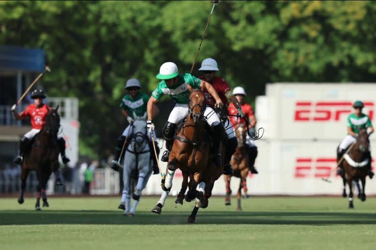
[[[330,175],[335,175],[334,169],[337,167],[336,158],[297,158],[295,163],[294,177],[298,179],[328,178]],[[373,159],[372,163],[374,163]]]

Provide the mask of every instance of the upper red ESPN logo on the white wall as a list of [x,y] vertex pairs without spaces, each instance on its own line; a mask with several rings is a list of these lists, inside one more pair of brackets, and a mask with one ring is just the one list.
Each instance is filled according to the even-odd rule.
[[[371,121],[374,117],[374,102],[364,102]],[[301,101],[295,103],[294,121],[297,122],[338,122],[343,116],[347,117],[352,113],[352,102],[309,102]]]

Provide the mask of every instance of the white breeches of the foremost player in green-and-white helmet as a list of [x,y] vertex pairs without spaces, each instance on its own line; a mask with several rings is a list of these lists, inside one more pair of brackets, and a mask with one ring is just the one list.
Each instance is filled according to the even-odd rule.
[[[188,104],[176,104],[172,109],[170,116],[168,117],[168,122],[173,124],[179,124],[188,115]],[[209,125],[216,125],[220,123],[218,115],[214,110],[207,106],[204,111],[205,120]]]

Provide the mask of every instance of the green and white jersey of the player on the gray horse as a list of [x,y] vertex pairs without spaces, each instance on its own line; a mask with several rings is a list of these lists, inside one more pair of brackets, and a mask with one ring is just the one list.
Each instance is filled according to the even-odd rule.
[[137,116],[143,116],[146,112],[147,102],[149,101],[149,96],[140,92],[137,93],[135,98],[132,98],[130,94],[127,94],[121,100],[120,107],[126,111],[128,111],[130,117],[133,117],[133,112]]

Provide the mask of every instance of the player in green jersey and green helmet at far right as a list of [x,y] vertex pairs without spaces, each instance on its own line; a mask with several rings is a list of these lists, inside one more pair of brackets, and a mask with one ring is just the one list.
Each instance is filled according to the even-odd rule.
[[[348,135],[342,140],[341,144],[338,147],[337,152],[337,162],[341,159],[346,149],[356,142],[356,137],[359,133],[359,129],[367,129],[367,134],[370,136],[374,132],[374,127],[372,126],[371,120],[368,115],[362,113],[362,108],[364,104],[361,101],[356,101],[352,107],[354,108],[354,113],[350,114],[347,118],[347,131]],[[368,176],[370,179],[374,176],[374,173],[371,171],[371,151],[368,151]],[[343,167],[340,164],[337,174],[343,174]]]

